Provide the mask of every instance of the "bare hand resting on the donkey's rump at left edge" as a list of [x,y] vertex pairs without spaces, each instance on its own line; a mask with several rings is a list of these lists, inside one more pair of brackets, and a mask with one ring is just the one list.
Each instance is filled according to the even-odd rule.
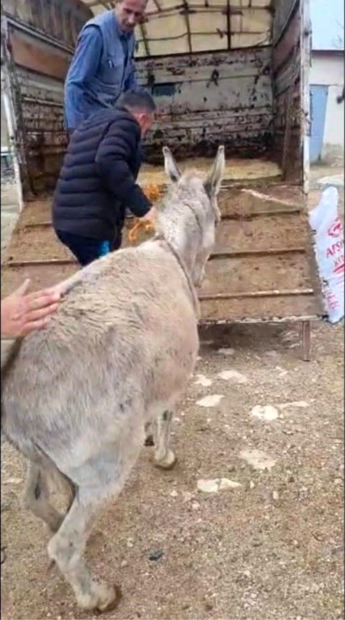
[[25,294],[30,280],[1,300],[1,338],[22,338],[44,329],[61,298],[58,288]]

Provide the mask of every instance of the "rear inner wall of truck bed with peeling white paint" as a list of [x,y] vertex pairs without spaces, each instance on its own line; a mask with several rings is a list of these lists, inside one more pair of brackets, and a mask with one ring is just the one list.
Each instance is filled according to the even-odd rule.
[[[258,156],[272,139],[271,48],[257,47],[193,56],[138,60],[159,120],[147,137],[148,161],[160,162],[163,144],[177,157]],[[157,159],[158,157],[158,159]]]

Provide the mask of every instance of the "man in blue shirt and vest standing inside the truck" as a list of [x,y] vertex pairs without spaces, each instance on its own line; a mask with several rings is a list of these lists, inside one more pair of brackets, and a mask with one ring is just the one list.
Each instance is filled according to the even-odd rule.
[[90,19],[77,40],[64,85],[64,122],[72,132],[94,112],[113,108],[121,92],[135,91],[134,28],[147,0],[120,0]]

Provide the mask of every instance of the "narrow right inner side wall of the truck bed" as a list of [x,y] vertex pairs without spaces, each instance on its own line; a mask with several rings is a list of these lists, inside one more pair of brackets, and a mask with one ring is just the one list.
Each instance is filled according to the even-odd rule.
[[302,102],[299,0],[276,0],[273,23],[274,155],[287,180],[301,180]]

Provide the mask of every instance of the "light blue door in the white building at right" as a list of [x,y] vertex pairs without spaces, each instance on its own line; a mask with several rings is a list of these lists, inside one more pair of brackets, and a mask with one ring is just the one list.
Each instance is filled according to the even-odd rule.
[[328,86],[310,86],[310,117],[312,127],[310,131],[310,163],[321,159],[323,131],[327,107]]

